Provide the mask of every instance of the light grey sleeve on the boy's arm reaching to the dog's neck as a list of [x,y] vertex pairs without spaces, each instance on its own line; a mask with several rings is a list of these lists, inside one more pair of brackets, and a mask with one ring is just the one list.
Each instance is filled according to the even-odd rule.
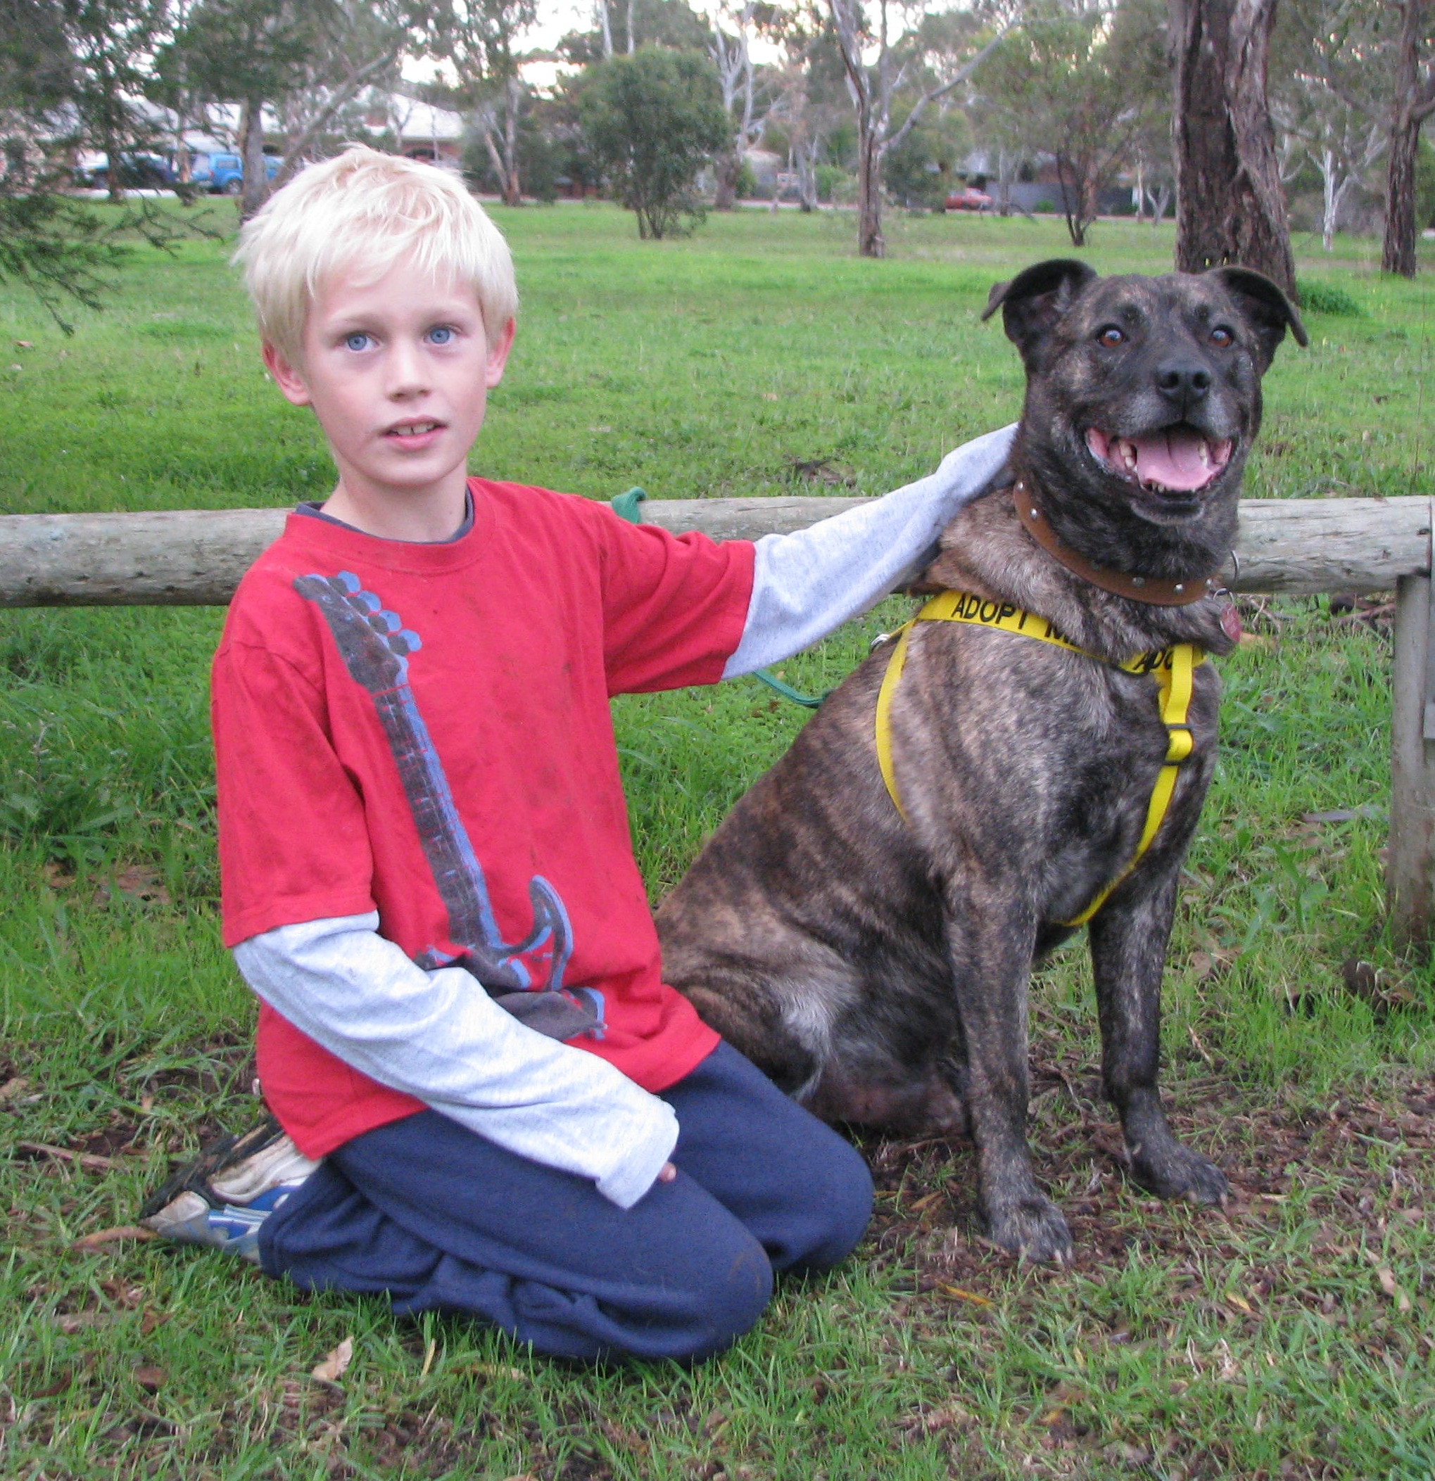
[[723,678],[801,652],[911,579],[957,511],[1001,471],[1014,431],[1004,427],[966,443],[930,477],[865,508],[794,535],[764,535],[742,640]]

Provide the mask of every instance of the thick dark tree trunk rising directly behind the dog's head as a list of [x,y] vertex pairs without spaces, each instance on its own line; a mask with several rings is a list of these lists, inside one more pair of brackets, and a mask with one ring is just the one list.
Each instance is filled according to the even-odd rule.
[[1277,0],[1170,0],[1176,267],[1223,262],[1296,289],[1266,105]]

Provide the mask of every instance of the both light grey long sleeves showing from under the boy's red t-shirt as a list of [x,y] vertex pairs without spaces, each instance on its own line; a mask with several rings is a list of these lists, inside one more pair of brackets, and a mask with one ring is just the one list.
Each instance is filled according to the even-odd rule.
[[[792,535],[757,542],[742,638],[723,677],[800,652],[881,600],[1001,471],[1014,428],[936,472]],[[379,1084],[532,1161],[591,1177],[631,1207],[677,1145],[672,1108],[607,1062],[524,1026],[456,967],[425,972],[378,915],[281,926],[234,948],[253,991]]]

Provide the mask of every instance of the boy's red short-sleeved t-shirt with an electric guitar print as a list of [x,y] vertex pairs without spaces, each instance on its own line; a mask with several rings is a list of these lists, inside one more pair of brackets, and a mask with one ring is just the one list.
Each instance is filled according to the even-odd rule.
[[[721,677],[752,546],[469,492],[441,545],[290,515],[240,582],[213,666],[225,945],[376,909],[424,966],[597,989],[603,1034],[572,1043],[662,1090],[717,1035],[660,977],[609,696]],[[422,1109],[268,1006],[258,1057],[308,1157]]]

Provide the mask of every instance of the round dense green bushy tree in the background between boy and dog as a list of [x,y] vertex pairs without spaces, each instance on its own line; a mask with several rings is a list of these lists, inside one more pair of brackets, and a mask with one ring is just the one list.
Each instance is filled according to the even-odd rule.
[[644,46],[592,68],[579,101],[583,135],[644,240],[702,219],[698,173],[729,142],[723,93],[705,56]]

